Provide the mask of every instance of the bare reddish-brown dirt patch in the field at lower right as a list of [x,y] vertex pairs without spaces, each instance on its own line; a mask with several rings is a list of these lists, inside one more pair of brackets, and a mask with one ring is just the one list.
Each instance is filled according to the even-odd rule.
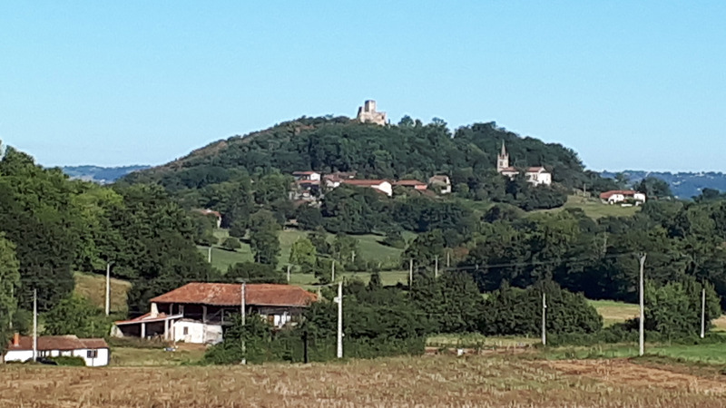
[[726,393],[726,382],[692,374],[634,364],[627,359],[564,360],[546,362],[563,374],[583,375],[598,381],[633,387],[658,387],[691,393]]

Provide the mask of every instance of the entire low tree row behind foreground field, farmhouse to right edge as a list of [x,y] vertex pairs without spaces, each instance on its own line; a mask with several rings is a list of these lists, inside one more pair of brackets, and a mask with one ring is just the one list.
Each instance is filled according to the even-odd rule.
[[[645,291],[648,341],[701,341],[701,284],[693,279],[662,287],[648,284]],[[721,316],[718,296],[707,293],[706,329]],[[264,320],[237,319],[224,340],[204,357],[208,364],[251,364],[270,361],[329,361],[336,358],[336,296],[328,287],[324,298],[312,304],[299,325],[275,329]],[[449,271],[441,277],[419,271],[408,287],[382,287],[373,274],[368,285],[358,280],[343,286],[343,348],[347,358],[421,355],[427,336],[434,334],[517,335],[542,334],[543,296],[545,330],[550,345],[592,345],[628,342],[637,338],[636,319],[603,327],[603,317],[582,294],[574,294],[551,280],[526,288],[502,287],[482,296],[471,275]],[[718,341],[710,336],[705,341]],[[244,347],[241,345],[244,344]]]

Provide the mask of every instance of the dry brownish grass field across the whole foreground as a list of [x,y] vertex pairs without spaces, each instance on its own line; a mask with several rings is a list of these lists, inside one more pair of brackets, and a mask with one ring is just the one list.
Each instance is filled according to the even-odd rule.
[[625,359],[434,355],[340,364],[0,367],[0,406],[721,407],[726,382]]

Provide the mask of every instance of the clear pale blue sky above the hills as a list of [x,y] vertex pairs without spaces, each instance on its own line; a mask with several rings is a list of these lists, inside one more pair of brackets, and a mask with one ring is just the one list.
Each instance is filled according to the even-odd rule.
[[726,171],[726,2],[0,3],[0,140],[43,165],[161,164],[366,99],[593,170]]

